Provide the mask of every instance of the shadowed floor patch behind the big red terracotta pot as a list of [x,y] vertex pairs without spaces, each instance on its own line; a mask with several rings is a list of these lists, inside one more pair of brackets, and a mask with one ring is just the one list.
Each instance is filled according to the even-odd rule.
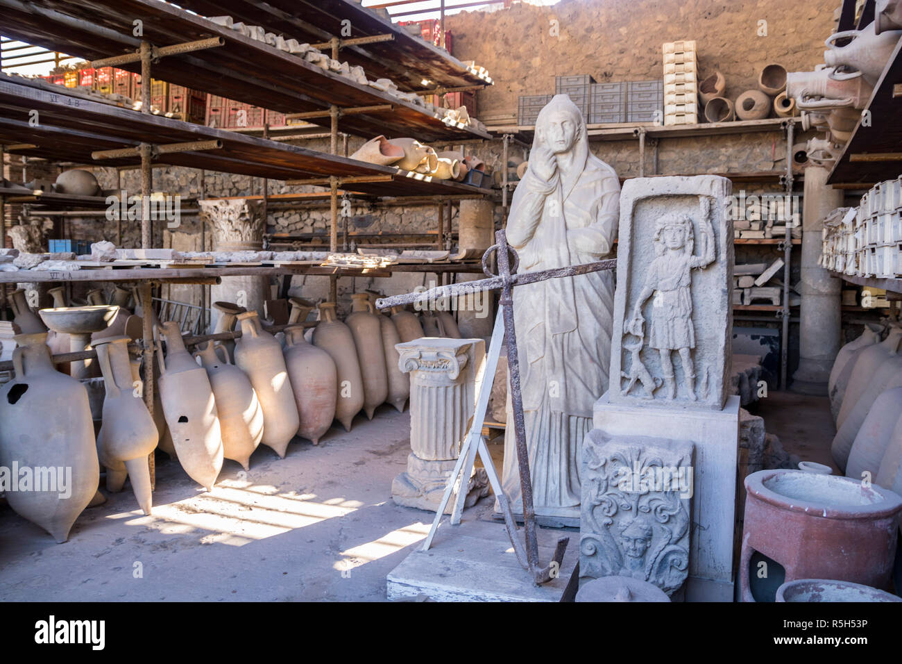
[[829,398],[769,392],[767,397],[750,407],[749,412],[764,417],[765,430],[777,435],[789,454],[798,454],[802,461],[825,463],[834,473],[839,473],[830,455],[836,427],[830,414]]

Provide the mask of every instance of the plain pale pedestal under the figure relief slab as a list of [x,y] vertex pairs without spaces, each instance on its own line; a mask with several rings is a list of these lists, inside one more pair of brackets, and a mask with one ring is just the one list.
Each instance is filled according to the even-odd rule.
[[695,444],[687,602],[732,602],[733,531],[739,450],[739,397],[723,410],[611,404],[594,407],[594,427],[608,436],[667,436]]

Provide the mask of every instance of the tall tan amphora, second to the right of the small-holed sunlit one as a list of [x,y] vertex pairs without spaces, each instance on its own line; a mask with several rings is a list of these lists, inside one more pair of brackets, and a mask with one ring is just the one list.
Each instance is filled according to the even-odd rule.
[[298,433],[298,407],[281,343],[263,330],[256,312],[238,314],[241,337],[235,341],[235,365],[251,379],[263,410],[262,444],[285,457],[291,438]]

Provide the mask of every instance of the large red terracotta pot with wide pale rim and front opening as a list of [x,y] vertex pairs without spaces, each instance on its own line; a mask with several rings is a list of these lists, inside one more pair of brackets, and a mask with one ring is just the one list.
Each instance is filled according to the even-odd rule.
[[[831,578],[886,588],[902,498],[836,475],[759,471],[745,478],[740,583],[743,602],[776,597],[783,581]],[[759,578],[760,556],[771,559]]]

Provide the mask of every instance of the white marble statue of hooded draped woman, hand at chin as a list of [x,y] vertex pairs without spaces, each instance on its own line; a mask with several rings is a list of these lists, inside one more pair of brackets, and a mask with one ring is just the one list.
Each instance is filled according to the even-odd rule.
[[[591,263],[613,248],[620,181],[589,152],[584,118],[566,95],[538,114],[529,169],[517,185],[507,239],[519,271]],[[608,385],[612,271],[516,286],[514,323],[538,515],[579,517],[579,464],[594,402]],[[522,512],[510,390],[502,484]]]

